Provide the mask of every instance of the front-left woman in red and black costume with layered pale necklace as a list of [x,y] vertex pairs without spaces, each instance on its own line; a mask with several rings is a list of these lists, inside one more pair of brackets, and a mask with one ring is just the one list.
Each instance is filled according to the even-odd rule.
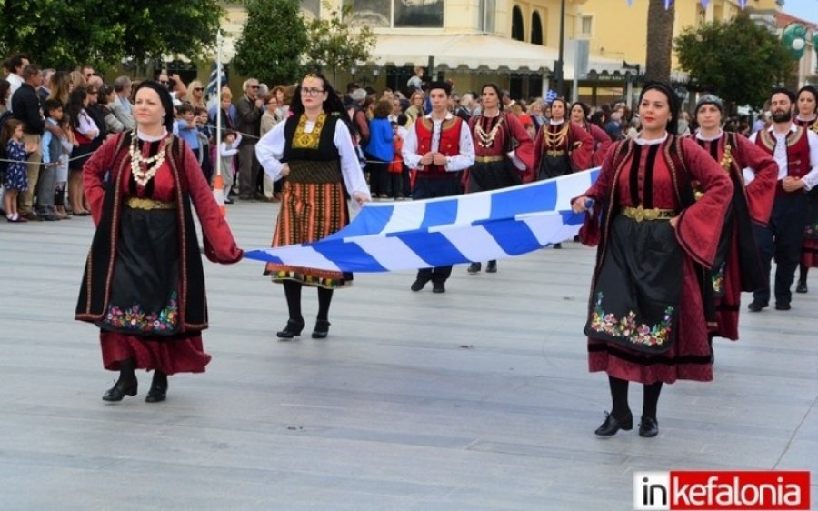
[[[119,379],[105,401],[135,396],[135,369],[154,370],[148,403],[164,401],[167,376],[201,373],[210,362],[205,255],[235,263],[235,245],[191,149],[173,135],[174,107],[153,81],[136,87],[136,128],[105,141],[85,164],[85,193],[96,232],[75,318],[100,328],[105,369]],[[105,175],[109,175],[105,179]]]

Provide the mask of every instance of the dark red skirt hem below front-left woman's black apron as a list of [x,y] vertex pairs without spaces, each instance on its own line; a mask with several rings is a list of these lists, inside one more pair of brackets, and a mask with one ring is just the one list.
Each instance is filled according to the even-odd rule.
[[211,358],[205,353],[201,334],[169,340],[100,331],[99,341],[103,366],[111,371],[118,371],[122,360],[133,358],[137,369],[158,369],[166,375],[204,373]]

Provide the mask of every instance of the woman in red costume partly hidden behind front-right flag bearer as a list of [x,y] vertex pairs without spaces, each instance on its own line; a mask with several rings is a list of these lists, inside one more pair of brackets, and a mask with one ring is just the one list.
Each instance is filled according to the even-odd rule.
[[[778,165],[743,135],[723,131],[723,113],[722,100],[715,95],[703,95],[696,103],[699,130],[695,141],[733,182],[733,197],[724,216],[713,268],[703,277],[704,312],[712,336],[737,340],[742,292],[766,286],[753,222],[766,225],[770,221]],[[750,173],[746,186],[742,169]],[[698,193],[694,186],[693,195]]]

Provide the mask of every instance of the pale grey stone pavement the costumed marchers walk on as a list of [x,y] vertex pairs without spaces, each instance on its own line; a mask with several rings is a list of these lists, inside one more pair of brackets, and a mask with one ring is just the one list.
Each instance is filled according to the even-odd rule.
[[[269,245],[276,212],[230,206],[239,245]],[[139,373],[139,395],[110,405],[116,374],[73,320],[92,235],[88,217],[0,225],[0,509],[618,511],[634,471],[683,468],[811,470],[818,495],[816,270],[791,311],[747,314],[743,296],[715,381],[663,388],[660,436],[601,439],[610,397],[582,334],[592,249],[455,266],[444,295],[412,293],[414,273],[356,275],[321,341],[304,289],[307,335],[288,343],[261,263],[205,262],[207,372],[172,377],[156,405]]]

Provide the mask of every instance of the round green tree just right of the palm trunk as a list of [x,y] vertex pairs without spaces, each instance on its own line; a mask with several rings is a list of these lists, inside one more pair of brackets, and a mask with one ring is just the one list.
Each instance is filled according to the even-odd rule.
[[782,83],[795,66],[778,38],[746,14],[689,28],[675,44],[679,64],[698,87],[735,105],[762,107],[770,87]]

